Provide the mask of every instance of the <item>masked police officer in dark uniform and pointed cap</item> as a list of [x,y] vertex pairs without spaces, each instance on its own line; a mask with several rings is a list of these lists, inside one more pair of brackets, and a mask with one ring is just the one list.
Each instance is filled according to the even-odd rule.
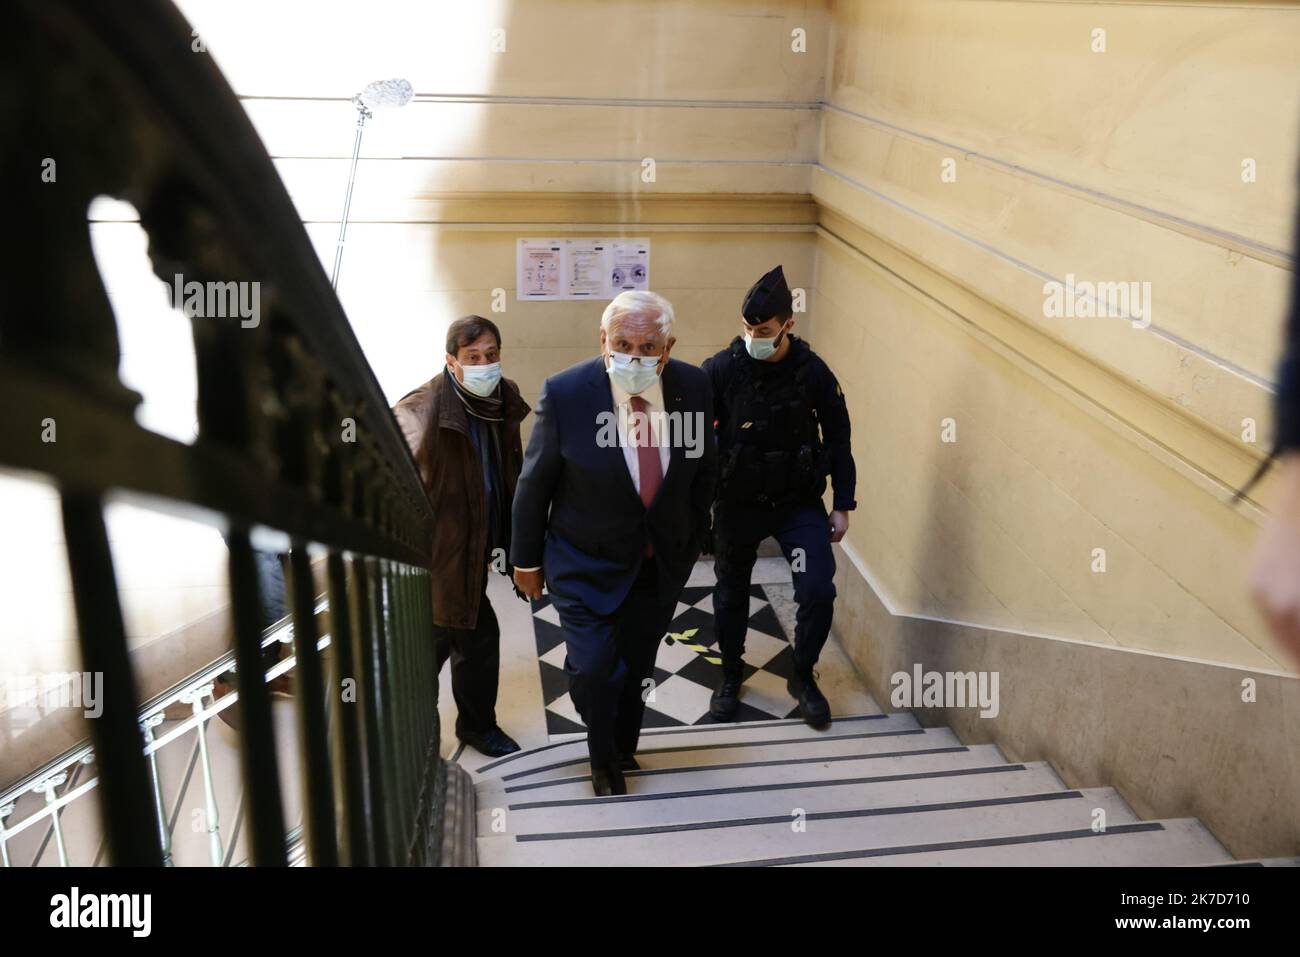
[[[835,374],[796,338],[793,300],[781,267],[745,294],[741,329],[705,360],[714,389],[719,480],[714,503],[714,615],[723,674],[710,701],[716,720],[740,703],[749,622],[749,580],[758,545],[781,545],[794,579],[794,676],[786,683],[803,719],[831,722],[812,666],[831,633],[835,555],[849,529],[857,472],[849,411]],[[822,502],[827,476],[833,510]]]

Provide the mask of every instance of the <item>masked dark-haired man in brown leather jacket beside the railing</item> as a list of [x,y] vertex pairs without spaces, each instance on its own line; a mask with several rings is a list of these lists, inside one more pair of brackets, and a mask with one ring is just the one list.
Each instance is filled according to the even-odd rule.
[[497,724],[500,631],[488,575],[510,575],[510,511],[523,463],[519,387],[500,376],[500,332],[482,316],[447,329],[447,364],[394,407],[433,506],[433,623],[451,655],[456,737],[500,757],[519,745]]

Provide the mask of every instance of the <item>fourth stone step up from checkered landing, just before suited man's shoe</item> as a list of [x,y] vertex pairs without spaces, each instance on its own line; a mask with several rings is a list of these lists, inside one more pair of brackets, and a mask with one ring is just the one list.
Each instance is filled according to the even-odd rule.
[[770,817],[788,814],[792,807],[833,811],[1048,791],[1066,791],[1066,787],[1050,765],[1036,761],[1027,765],[920,771],[883,780],[879,776],[837,778],[767,788],[723,788],[714,793],[686,791],[658,797],[642,794],[533,801],[529,794],[521,794],[504,809],[480,806],[477,833],[482,837],[502,837],[530,831],[599,831],[716,820],[736,817],[740,811],[749,817]]

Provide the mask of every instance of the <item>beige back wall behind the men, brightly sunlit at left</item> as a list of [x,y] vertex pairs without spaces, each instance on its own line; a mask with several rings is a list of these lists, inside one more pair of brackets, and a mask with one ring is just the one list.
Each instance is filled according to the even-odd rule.
[[[676,355],[689,361],[731,339],[745,289],[772,264],[811,293],[822,0],[377,0],[364,17],[316,0],[179,7],[326,269],[355,133],[348,100],[372,79],[413,83],[415,101],[367,127],[339,287],[393,402],[441,371],[447,324],[469,312],[500,325],[506,374],[530,402],[547,374],[595,354],[603,303],[515,302],[519,237],[649,235],[651,280],[677,309]],[[814,38],[809,53],[789,49],[796,27]],[[151,276],[135,211],[99,202],[90,218],[121,374],[144,398],[139,421],[191,441],[188,324]],[[0,596],[16,610],[0,625],[0,672],[78,668],[57,497],[0,478],[0,524],[22,542],[0,559]],[[136,663],[153,668],[146,649],[221,614],[225,547],[212,528],[147,511],[117,510],[110,536]],[[195,668],[214,646],[192,649]],[[34,727],[0,722],[9,749]]]

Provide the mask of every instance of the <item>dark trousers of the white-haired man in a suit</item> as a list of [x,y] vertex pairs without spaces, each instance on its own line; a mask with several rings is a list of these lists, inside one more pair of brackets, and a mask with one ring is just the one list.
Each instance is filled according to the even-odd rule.
[[578,601],[551,596],[564,631],[569,697],[586,724],[593,765],[610,765],[619,754],[634,753],[641,739],[647,683],[677,607],[676,598],[659,599],[658,586],[658,568],[647,559],[612,615],[597,615]]

